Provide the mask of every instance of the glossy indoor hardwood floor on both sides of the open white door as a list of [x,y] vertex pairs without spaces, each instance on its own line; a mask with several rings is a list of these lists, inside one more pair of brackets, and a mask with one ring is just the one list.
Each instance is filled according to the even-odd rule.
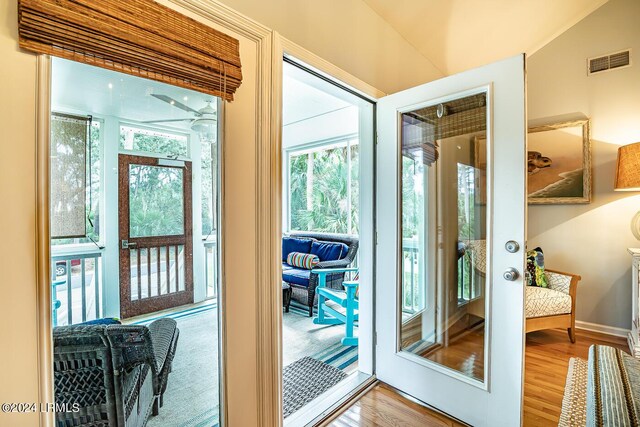
[[[546,330],[527,334],[523,424],[557,426],[571,357],[587,358],[589,346],[604,344],[628,351],[624,338],[578,329],[571,344],[566,331]],[[379,383],[360,397],[330,426],[461,426],[459,422],[425,408],[393,388]]]

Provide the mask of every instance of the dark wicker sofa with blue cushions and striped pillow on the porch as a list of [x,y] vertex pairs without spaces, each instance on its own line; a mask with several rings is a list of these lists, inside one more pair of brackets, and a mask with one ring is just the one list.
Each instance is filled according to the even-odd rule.
[[[288,283],[294,298],[306,296],[309,317],[313,317],[316,301],[318,275],[313,270],[296,268],[287,264],[291,252],[301,252],[318,256],[320,263],[314,268],[349,267],[358,253],[358,239],[344,234],[291,233],[282,237],[282,281]],[[327,275],[326,286],[342,290],[344,273]],[[305,295],[306,294],[306,295]]]

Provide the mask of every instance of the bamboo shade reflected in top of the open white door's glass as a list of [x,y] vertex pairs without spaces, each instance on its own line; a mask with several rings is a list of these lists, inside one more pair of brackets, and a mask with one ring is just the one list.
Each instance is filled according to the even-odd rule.
[[438,160],[438,140],[487,130],[486,94],[402,115],[402,154],[427,166]]

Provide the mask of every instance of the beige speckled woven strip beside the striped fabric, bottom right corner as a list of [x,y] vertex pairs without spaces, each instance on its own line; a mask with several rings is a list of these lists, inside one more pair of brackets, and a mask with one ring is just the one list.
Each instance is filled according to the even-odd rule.
[[579,357],[569,360],[558,427],[583,427],[587,424],[588,362]]

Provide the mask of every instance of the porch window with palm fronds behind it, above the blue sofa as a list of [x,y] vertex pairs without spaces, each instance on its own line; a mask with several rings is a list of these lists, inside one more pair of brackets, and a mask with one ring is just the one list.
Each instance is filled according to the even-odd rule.
[[289,229],[358,234],[358,140],[289,152]]

